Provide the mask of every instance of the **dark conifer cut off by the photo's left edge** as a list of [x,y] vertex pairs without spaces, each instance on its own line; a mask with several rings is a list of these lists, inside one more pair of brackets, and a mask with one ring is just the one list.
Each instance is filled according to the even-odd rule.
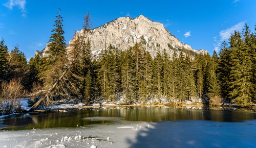
[[0,84],[6,80],[8,65],[8,48],[5,45],[4,38],[0,41]]

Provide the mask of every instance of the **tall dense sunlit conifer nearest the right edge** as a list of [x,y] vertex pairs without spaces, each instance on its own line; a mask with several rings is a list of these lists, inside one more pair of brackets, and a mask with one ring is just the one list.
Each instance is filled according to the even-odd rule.
[[[244,29],[244,37],[248,28]],[[231,56],[230,63],[230,92],[229,95],[233,98],[232,102],[239,106],[248,106],[251,104],[252,92],[252,61],[248,47],[243,42],[239,32],[234,32],[230,37]]]

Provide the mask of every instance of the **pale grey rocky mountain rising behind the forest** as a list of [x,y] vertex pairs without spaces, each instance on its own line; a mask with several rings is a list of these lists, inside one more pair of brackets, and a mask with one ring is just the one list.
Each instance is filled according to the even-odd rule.
[[[170,56],[173,55],[174,49],[185,54],[207,53],[206,50],[192,49],[191,46],[182,43],[174,35],[170,34],[162,23],[152,21],[143,15],[134,19],[120,17],[105,23],[103,26],[92,29],[90,32],[84,32],[84,30],[77,31],[74,38],[77,36],[89,38],[92,45],[91,50],[95,56],[105,48],[105,45],[112,44],[120,50],[127,50],[136,42],[140,42],[143,48],[150,52],[153,57],[158,50],[163,51],[164,48]],[[73,41],[74,39],[70,40],[69,44]],[[71,47],[68,46],[68,52],[70,49]],[[47,47],[43,51],[38,52],[38,54],[43,56],[46,50],[48,50]]]

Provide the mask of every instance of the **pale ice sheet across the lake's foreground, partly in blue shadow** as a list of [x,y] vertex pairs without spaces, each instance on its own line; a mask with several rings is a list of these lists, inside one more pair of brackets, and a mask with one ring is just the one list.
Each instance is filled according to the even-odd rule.
[[86,128],[1,131],[0,147],[255,147],[255,125],[256,120],[121,120]]

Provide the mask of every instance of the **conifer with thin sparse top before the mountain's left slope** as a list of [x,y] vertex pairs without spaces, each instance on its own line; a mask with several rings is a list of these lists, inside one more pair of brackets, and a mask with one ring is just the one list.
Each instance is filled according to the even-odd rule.
[[[84,16],[83,35],[74,35],[73,42],[69,45],[70,60],[74,62],[69,72],[69,85],[73,88],[72,94],[78,100],[91,104],[96,96],[95,73],[92,64],[91,43],[86,40],[86,32],[91,29],[89,12]],[[72,87],[73,86],[73,87]]]

